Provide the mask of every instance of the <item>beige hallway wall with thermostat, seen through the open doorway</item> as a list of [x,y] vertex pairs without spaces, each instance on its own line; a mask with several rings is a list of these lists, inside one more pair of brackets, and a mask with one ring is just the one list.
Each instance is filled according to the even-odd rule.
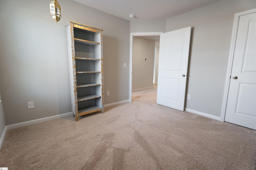
[[[133,37],[132,90],[153,87],[154,51],[154,41]],[[146,61],[144,61],[144,58],[146,58]]]

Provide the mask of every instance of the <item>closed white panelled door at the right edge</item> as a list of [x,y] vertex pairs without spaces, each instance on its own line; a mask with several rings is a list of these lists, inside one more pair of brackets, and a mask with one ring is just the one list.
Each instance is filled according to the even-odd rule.
[[256,13],[240,16],[225,121],[256,130]]

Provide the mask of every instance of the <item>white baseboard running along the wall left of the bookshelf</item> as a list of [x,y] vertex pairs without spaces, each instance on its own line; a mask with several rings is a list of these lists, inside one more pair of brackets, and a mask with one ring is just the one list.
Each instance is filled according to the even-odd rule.
[[13,125],[8,125],[6,127],[7,127],[7,130],[16,129],[18,127],[33,125],[33,124],[36,124],[36,123],[41,123],[41,122],[48,121],[48,120],[58,119],[58,118],[66,117],[66,116],[69,116],[69,115],[72,115],[72,112],[63,113],[63,114],[60,114],[60,115],[55,115],[55,116],[50,116],[50,117],[44,117],[44,118],[41,118],[41,119],[25,121],[25,122],[21,122],[21,123],[16,123],[16,124],[13,124]]

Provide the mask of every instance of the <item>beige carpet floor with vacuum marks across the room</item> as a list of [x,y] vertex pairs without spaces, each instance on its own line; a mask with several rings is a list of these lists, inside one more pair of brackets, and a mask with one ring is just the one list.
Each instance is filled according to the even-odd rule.
[[105,113],[8,130],[8,170],[255,170],[256,131],[156,104],[156,88]]

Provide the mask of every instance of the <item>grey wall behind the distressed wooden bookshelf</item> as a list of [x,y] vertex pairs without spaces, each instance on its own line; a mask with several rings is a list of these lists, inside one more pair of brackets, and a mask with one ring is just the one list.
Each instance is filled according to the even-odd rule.
[[[6,125],[71,112],[66,23],[104,29],[104,104],[128,100],[130,23],[72,0],[56,23],[46,0],[0,1],[0,91]],[[34,109],[27,109],[27,102]]]

